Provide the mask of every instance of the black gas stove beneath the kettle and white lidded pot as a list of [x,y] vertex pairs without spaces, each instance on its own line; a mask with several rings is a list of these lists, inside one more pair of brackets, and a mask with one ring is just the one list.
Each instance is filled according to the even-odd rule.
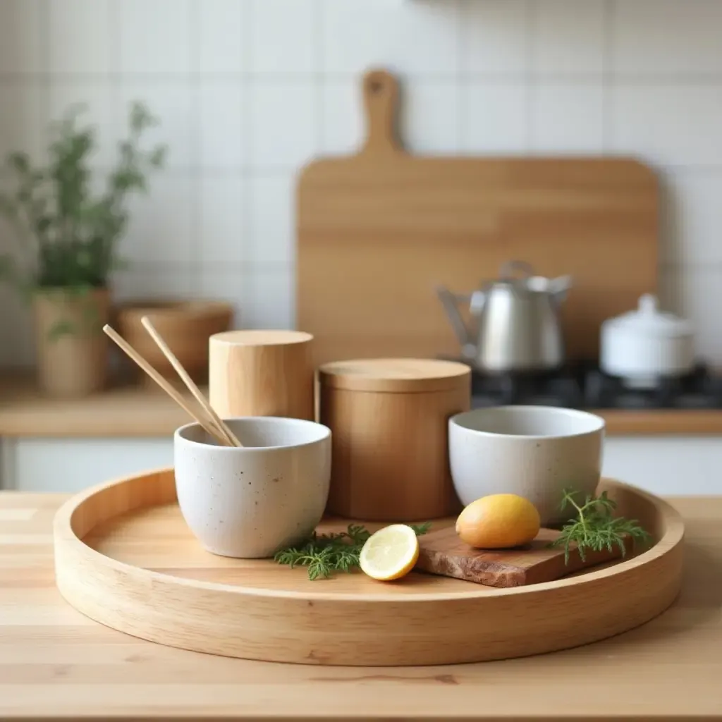
[[484,374],[472,370],[471,406],[529,404],[571,409],[722,409],[722,375],[700,362],[692,373],[629,388],[593,361],[545,373]]

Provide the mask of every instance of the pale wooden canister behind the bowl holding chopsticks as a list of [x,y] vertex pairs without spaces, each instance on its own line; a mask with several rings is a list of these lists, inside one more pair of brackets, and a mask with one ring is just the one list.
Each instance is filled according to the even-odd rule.
[[209,339],[209,401],[221,418],[313,421],[313,336],[302,331],[225,331]]

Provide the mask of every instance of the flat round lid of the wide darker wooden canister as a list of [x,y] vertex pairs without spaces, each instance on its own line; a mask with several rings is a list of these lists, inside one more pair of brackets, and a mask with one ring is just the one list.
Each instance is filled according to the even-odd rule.
[[323,386],[349,391],[448,391],[469,384],[471,368],[436,359],[357,359],[334,361],[318,369]]

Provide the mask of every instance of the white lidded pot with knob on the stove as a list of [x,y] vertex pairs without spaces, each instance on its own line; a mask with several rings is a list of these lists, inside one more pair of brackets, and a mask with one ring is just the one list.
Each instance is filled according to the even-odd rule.
[[690,321],[657,308],[643,295],[638,310],[601,325],[599,366],[627,386],[652,388],[660,378],[682,376],[695,365],[695,333]]

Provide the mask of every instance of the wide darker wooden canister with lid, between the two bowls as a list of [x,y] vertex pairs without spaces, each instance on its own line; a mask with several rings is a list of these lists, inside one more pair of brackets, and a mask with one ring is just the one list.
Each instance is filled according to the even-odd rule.
[[471,405],[471,369],[422,359],[319,368],[320,421],[331,428],[328,513],[420,521],[457,513],[448,419]]

